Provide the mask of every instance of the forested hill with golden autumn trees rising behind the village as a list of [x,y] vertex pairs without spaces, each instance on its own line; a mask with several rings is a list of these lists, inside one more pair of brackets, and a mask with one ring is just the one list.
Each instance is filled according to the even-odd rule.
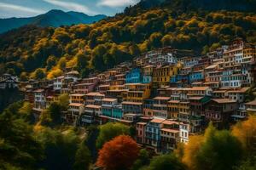
[[255,43],[253,8],[254,0],[143,0],[91,25],[22,27],[0,37],[0,73],[40,79],[74,67],[85,77],[163,46],[206,54],[235,37]]

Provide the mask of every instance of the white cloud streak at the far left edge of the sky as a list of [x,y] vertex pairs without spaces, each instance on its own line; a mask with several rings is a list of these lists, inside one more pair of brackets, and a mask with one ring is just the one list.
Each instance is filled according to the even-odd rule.
[[[15,10],[15,12],[21,12],[21,15],[26,16],[27,14],[42,14],[45,11],[38,8],[28,8],[20,5],[15,5],[11,3],[0,3],[1,10]],[[26,13],[26,14],[24,14]]]

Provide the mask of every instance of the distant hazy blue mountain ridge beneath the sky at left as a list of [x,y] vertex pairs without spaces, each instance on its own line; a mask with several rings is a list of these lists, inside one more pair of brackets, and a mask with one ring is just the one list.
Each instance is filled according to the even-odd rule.
[[50,10],[48,13],[40,14],[30,18],[9,18],[0,19],[0,33],[9,31],[25,25],[36,26],[71,26],[75,24],[91,24],[98,20],[105,19],[107,16],[98,14],[89,16],[79,12],[63,12],[61,10]]

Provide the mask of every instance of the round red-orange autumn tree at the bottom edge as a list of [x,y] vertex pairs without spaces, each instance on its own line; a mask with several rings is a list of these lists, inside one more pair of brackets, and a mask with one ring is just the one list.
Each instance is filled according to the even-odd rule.
[[137,159],[138,146],[130,136],[120,135],[103,145],[96,161],[98,167],[129,169]]

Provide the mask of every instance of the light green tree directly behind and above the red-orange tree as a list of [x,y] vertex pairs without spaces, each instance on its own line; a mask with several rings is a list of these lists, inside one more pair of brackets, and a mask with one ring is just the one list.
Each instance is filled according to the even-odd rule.
[[120,124],[108,122],[100,127],[99,136],[96,139],[96,147],[102,148],[102,145],[121,134],[130,134],[130,128]]

